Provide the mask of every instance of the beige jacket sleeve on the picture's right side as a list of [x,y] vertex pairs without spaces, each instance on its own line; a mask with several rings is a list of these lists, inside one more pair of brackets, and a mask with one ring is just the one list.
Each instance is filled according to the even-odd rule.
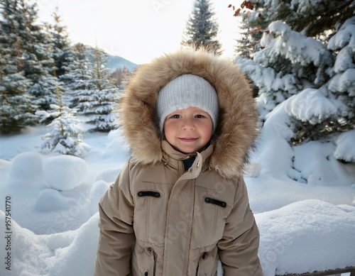
[[219,258],[224,276],[262,276],[258,259],[259,231],[249,207],[249,198],[243,177],[237,183],[231,214],[226,219],[224,236],[219,241]]

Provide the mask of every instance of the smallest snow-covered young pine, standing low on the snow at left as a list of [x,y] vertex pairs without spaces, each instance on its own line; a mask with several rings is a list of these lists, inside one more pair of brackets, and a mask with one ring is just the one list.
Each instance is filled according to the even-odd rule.
[[[59,86],[57,87],[59,88]],[[57,104],[51,104],[51,111],[37,111],[38,116],[42,116],[42,121],[51,121],[48,124],[50,132],[42,137],[41,148],[48,148],[64,155],[74,155],[82,157],[89,152],[90,146],[84,143],[82,133],[82,121],[76,116],[76,110],[68,106],[62,106],[61,95],[57,90]]]

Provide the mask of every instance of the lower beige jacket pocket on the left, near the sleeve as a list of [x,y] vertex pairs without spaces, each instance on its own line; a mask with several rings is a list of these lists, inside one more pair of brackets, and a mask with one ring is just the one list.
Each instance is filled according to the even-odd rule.
[[152,247],[136,242],[132,254],[132,276],[138,275],[155,275],[155,254]]

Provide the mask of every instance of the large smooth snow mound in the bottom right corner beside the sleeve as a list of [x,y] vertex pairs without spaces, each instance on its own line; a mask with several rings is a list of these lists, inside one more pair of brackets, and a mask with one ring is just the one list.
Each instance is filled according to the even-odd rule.
[[353,206],[308,199],[256,214],[256,221],[264,276],[354,266]]

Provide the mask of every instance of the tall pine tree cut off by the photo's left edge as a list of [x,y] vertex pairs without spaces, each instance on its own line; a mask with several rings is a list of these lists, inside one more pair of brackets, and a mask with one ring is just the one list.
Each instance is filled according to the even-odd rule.
[[0,133],[13,134],[36,121],[23,72],[19,29],[14,21],[16,1],[0,0]]

